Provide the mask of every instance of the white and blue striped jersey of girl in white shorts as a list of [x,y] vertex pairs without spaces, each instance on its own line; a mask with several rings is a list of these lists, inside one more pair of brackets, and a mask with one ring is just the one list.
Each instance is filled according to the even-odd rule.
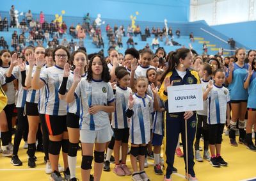
[[88,109],[92,106],[104,105],[114,102],[113,90],[109,83],[104,81],[92,80],[89,83],[86,79],[81,79],[75,91],[75,97],[80,98],[80,129],[81,130],[100,130],[110,127],[109,113],[98,111],[89,114]]

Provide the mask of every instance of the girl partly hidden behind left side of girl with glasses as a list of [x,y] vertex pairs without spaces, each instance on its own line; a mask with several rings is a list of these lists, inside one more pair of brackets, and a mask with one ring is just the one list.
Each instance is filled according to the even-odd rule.
[[[26,67],[26,80],[25,86],[28,88],[27,97],[26,97],[26,114],[28,116],[28,166],[30,168],[35,168],[36,159],[35,159],[35,151],[36,151],[36,132],[38,130],[38,125],[40,123],[39,113],[38,113],[38,102],[39,102],[39,90],[35,90],[31,88],[31,79],[33,74],[36,72],[36,67],[34,67],[36,63],[36,59],[42,59],[44,61],[44,52],[45,49],[42,46],[35,47],[35,52],[29,54],[28,63],[29,65]],[[43,69],[45,68],[42,67]]]

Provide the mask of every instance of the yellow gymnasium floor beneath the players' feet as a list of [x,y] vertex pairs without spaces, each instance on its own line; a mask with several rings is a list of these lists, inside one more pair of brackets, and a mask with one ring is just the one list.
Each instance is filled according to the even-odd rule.
[[[256,180],[256,152],[252,152],[245,148],[243,145],[238,147],[233,147],[228,144],[228,136],[223,136],[223,146],[222,146],[222,156],[225,161],[228,162],[228,166],[223,168],[213,168],[209,162],[196,162],[195,172],[196,177],[200,181],[236,181],[236,180]],[[10,158],[1,157],[0,154],[0,180],[49,180],[49,175],[45,174],[45,164],[44,164],[44,153],[36,152],[36,168],[28,168],[28,159],[26,155],[26,150],[22,148],[24,143],[20,144],[21,148],[19,150],[19,158],[23,162],[22,166],[13,166],[10,164]],[[203,142],[200,141],[200,145],[203,146]],[[81,151],[77,153],[81,155]],[[202,155],[202,152],[201,152]],[[61,159],[61,165],[63,162]],[[77,177],[81,180],[80,175],[80,163],[81,157],[77,157]],[[153,171],[153,160],[148,160],[148,168],[146,172],[151,181],[160,181],[163,180],[163,176],[158,176],[154,174]],[[127,165],[131,169],[131,162],[129,161],[129,155],[127,157]],[[102,173],[103,181],[130,181],[130,176],[118,177],[116,176],[112,169],[114,164],[111,164],[111,171]],[[178,169],[178,173],[173,174],[173,181],[182,181],[186,180],[184,175],[184,160],[183,158],[175,157],[174,166]]]

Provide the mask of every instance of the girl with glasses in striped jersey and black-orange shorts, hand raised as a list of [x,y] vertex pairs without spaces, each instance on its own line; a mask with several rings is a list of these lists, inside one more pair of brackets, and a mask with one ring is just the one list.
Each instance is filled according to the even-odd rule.
[[[67,63],[70,55],[68,49],[63,46],[58,46],[53,51],[53,60],[56,65],[53,67],[44,67],[44,54],[36,59],[36,71],[32,79],[32,88],[40,90],[45,87],[46,100],[45,100],[45,121],[47,130],[49,132],[49,159],[51,162],[52,180],[63,180],[58,170],[58,160],[60,155],[60,148],[62,145],[63,161],[64,161],[64,176],[68,180],[70,173],[68,169],[68,132],[66,125],[67,117],[67,102],[60,100],[58,97],[58,89],[63,79],[63,68]],[[41,74],[40,74],[41,72]]]

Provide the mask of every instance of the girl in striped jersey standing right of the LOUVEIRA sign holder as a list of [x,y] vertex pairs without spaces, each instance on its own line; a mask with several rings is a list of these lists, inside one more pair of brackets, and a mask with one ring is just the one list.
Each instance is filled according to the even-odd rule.
[[[204,92],[207,100],[207,124],[209,125],[209,147],[211,151],[211,165],[214,167],[227,166],[228,163],[221,157],[221,141],[226,123],[227,107],[230,102],[228,89],[223,86],[225,71],[217,69],[213,73],[214,84],[209,82]],[[216,155],[215,155],[216,150]]]

